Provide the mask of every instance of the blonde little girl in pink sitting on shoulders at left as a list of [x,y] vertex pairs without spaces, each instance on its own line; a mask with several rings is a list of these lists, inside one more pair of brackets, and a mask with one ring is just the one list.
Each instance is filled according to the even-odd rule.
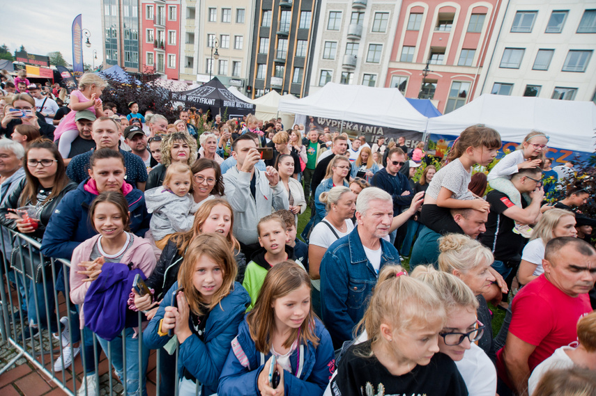
[[[70,93],[70,113],[64,116],[54,132],[54,141],[60,138],[58,150],[63,158],[68,158],[70,144],[79,136],[75,118],[79,111],[89,110],[96,118],[105,116],[100,96],[107,82],[93,73],[85,73],[79,79],[79,89]],[[61,136],[64,135],[62,138]]]

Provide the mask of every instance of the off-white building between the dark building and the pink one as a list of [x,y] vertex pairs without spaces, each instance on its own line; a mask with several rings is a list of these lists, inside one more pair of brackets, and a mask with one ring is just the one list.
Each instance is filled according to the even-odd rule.
[[384,86],[401,3],[323,0],[310,93],[329,81]]

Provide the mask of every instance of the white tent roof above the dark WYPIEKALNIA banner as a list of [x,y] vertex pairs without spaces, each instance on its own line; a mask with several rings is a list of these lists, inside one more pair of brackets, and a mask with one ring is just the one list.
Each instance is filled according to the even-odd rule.
[[327,83],[298,100],[280,100],[280,111],[424,132],[427,118],[395,88]]

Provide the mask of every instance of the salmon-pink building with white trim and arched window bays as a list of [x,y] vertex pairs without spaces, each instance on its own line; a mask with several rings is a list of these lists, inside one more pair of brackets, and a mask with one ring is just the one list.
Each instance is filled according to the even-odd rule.
[[441,113],[464,106],[478,90],[498,29],[498,0],[402,1],[383,85],[431,100]]

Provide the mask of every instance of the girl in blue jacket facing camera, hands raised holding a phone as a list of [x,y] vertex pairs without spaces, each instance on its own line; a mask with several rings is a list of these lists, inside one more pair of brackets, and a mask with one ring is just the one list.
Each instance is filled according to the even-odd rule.
[[[178,282],[167,292],[143,333],[143,342],[158,349],[170,342],[168,331],[174,331],[180,344],[178,395],[195,395],[197,386],[200,395],[212,395],[217,390],[230,342],[250,303],[246,290],[234,282],[237,271],[227,239],[215,233],[199,235],[188,246]],[[171,301],[179,289],[176,308]],[[174,351],[173,347],[167,349]]]

